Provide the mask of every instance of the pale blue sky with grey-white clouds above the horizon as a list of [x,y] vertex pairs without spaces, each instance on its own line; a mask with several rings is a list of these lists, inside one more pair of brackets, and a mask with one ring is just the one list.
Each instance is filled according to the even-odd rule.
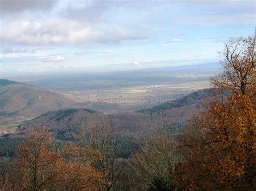
[[256,1],[0,1],[0,78],[215,62],[255,29]]

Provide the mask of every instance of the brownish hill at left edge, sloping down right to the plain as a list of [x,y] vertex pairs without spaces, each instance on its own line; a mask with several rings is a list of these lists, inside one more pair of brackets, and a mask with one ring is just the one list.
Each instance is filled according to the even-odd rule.
[[77,107],[77,103],[51,90],[0,80],[0,116],[35,117],[46,111]]

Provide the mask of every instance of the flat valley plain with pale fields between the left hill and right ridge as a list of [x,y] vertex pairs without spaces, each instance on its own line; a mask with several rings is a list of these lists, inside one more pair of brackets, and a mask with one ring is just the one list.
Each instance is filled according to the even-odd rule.
[[208,81],[198,81],[119,89],[62,91],[61,94],[83,104],[84,107],[90,107],[92,103],[102,103],[108,104],[110,108],[99,108],[99,111],[123,112],[149,108],[209,87]]

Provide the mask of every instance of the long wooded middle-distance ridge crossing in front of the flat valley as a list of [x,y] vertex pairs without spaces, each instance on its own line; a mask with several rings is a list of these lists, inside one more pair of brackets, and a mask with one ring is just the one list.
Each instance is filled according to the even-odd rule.
[[53,132],[53,137],[62,140],[72,139],[72,133],[77,133],[83,124],[87,129],[87,122],[110,121],[111,127],[119,135],[144,133],[161,128],[182,127],[186,125],[191,115],[203,108],[201,103],[210,97],[211,89],[203,89],[171,102],[157,105],[151,109],[139,112],[118,112],[104,114],[90,109],[62,109],[49,111],[45,114],[21,124],[17,133],[24,133],[32,127],[44,124]]

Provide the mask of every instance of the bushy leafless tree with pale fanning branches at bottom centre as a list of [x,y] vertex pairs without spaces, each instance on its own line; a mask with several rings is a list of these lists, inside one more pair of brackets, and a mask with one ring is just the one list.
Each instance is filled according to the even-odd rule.
[[179,155],[174,153],[173,138],[169,135],[150,135],[140,144],[131,158],[130,172],[126,172],[131,190],[176,190],[170,174]]

